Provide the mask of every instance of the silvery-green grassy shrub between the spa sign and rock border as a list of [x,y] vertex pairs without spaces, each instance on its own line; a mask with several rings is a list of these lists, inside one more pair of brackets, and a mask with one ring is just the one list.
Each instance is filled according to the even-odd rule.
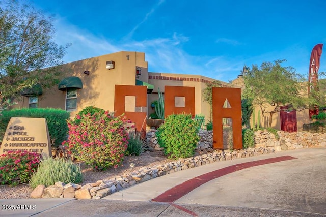
[[30,186],[35,189],[37,185],[44,184],[46,187],[57,181],[64,183],[82,183],[83,174],[79,165],[73,164],[71,160],[64,158],[45,158],[41,160],[36,172],[32,175]]

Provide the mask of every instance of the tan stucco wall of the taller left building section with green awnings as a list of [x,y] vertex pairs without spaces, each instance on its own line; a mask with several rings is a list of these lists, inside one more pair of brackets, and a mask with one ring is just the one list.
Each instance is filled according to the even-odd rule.
[[[129,60],[128,60],[129,59]],[[106,61],[115,61],[114,69],[106,69]],[[96,106],[108,111],[114,111],[114,88],[115,84],[135,85],[136,67],[142,69],[139,80],[147,82],[148,64],[145,61],[145,53],[121,51],[89,59],[79,60],[65,64],[67,69],[62,78],[69,76],[79,77],[83,82],[83,88],[77,90],[77,110],[70,112],[74,117],[76,113],[87,106]],[[84,74],[89,71],[90,74]],[[15,107],[28,107],[28,97]],[[65,109],[66,91],[61,91],[58,86],[43,90],[39,97],[39,108]]]

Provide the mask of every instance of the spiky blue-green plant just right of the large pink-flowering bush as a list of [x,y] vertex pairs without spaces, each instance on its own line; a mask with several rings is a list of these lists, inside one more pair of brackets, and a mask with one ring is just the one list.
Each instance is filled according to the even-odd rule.
[[136,131],[134,133],[129,133],[127,155],[134,154],[139,156],[141,153],[150,150],[148,141],[146,137],[142,137],[142,133]]

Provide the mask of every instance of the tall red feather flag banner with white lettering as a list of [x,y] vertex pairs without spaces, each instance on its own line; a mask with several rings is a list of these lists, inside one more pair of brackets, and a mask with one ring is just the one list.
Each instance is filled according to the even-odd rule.
[[[317,44],[316,46],[314,46],[314,48],[311,51],[310,63],[309,63],[309,75],[308,75],[308,79],[309,79],[308,95],[310,94],[310,91],[317,86],[319,60],[322,52],[322,45],[323,44]],[[315,108],[310,108],[309,118],[311,119],[311,116],[314,114],[318,114],[318,109],[316,110]]]

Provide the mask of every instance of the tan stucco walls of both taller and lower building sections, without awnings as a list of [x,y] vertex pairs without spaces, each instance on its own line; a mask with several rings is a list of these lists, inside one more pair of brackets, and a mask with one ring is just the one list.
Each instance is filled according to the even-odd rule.
[[[111,60],[115,61],[115,68],[108,70],[106,69],[106,61]],[[147,95],[147,116],[154,112],[150,104],[158,99],[158,88],[164,93],[164,86],[168,85],[195,87],[196,114],[205,115],[205,123],[210,119],[209,104],[203,101],[202,92],[207,83],[216,80],[200,75],[149,73],[148,63],[145,61],[145,53],[143,52],[120,51],[75,61],[65,64],[63,67],[65,73],[62,75],[62,79],[76,76],[83,82],[83,88],[77,90],[77,110],[70,112],[72,118],[87,106],[114,111],[115,85],[135,85],[135,80],[138,79],[154,85],[153,94]],[[142,70],[142,75],[138,78],[135,75],[137,67]],[[89,71],[89,75],[84,74],[85,71]],[[169,77],[169,80],[159,79],[160,77]],[[230,83],[219,82],[223,86],[238,87]],[[28,97],[22,97],[22,101],[15,107],[28,107],[28,100]],[[58,86],[55,86],[51,89],[43,89],[43,95],[39,97],[38,107],[65,110],[65,102],[66,91],[61,91]]]

